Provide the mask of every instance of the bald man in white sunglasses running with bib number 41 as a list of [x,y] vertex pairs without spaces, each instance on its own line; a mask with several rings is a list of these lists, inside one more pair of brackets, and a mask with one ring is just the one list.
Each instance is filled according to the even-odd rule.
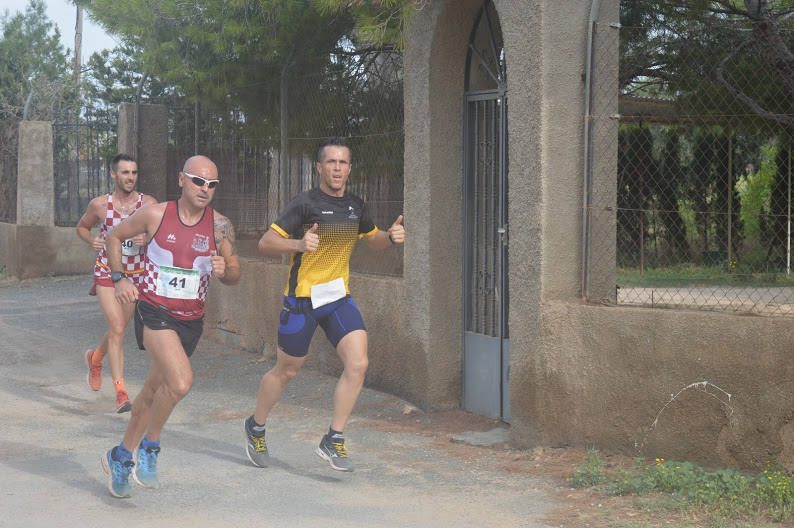
[[[130,477],[158,485],[160,434],[193,384],[190,356],[201,338],[210,276],[229,285],[240,280],[234,227],[209,207],[220,181],[212,160],[193,156],[179,173],[179,200],[144,207],[108,235],[116,301],[135,306],[138,347],[151,357],[124,439],[100,459],[114,497],[129,496]],[[150,238],[138,289],[125,278],[121,257],[123,242],[144,232]]]

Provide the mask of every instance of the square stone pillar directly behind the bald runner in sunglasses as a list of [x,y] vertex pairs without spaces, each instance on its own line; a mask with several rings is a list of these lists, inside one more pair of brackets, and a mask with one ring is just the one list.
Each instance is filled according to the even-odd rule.
[[[168,109],[165,105],[122,103],[119,106],[119,152],[138,160],[138,190],[158,201],[166,199]],[[137,123],[137,133],[136,133]]]

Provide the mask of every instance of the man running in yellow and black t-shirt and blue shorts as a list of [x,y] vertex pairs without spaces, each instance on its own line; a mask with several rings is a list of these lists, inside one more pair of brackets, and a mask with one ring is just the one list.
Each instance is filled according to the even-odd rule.
[[353,471],[343,431],[364,386],[368,359],[367,331],[348,288],[350,254],[359,238],[374,249],[402,244],[405,229],[400,215],[387,231],[379,230],[363,200],[345,191],[351,152],[344,140],[323,143],[317,160],[319,187],[295,197],[259,241],[262,253],[291,253],[292,262],[278,327],[276,366],[262,377],[256,411],[244,423],[246,453],[255,466],[268,465],[265,420],[303,366],[319,325],[344,370],[336,385],[331,427],[316,452],[333,469]]

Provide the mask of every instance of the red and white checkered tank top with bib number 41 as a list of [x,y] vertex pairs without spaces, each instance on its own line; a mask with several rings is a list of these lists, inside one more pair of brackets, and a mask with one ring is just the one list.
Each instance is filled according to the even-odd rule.
[[210,207],[195,225],[187,226],[179,219],[177,202],[166,202],[160,227],[146,246],[140,300],[177,319],[204,315],[210,257],[215,251],[214,224]]

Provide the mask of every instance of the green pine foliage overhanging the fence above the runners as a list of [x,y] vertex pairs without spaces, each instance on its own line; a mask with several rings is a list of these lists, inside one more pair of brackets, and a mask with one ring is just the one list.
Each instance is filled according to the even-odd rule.
[[263,94],[279,92],[282,72],[300,65],[319,73],[353,27],[347,12],[323,16],[308,0],[93,0],[86,7],[121,38],[138,76],[147,72],[205,110],[238,109],[260,126],[277,114],[277,98]]

